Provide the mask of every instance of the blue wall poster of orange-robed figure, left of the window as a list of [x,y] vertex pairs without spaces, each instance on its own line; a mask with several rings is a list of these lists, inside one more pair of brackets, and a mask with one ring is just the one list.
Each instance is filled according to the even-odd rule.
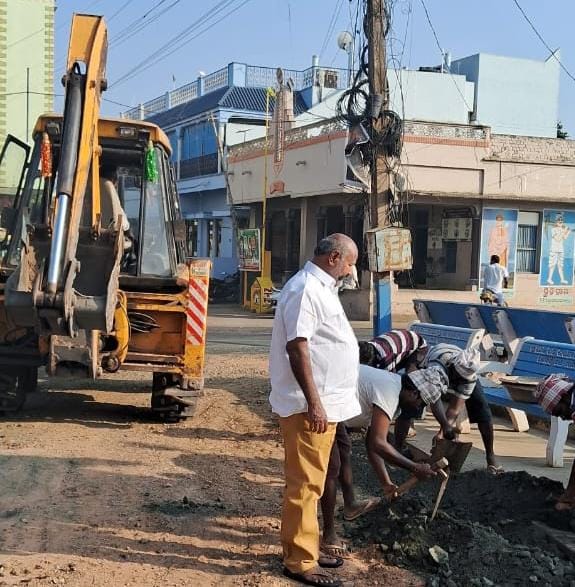
[[481,220],[481,256],[479,285],[482,287],[483,271],[491,257],[497,255],[499,264],[509,273],[508,289],[513,290],[515,282],[515,256],[517,252],[518,210],[509,208],[483,208]]

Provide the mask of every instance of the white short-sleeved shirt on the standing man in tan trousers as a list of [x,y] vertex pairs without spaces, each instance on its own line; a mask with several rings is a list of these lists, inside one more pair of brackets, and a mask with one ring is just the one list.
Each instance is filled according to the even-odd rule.
[[359,414],[357,339],[335,279],[311,261],[283,287],[274,318],[270,404],[283,418],[308,409],[286,351],[286,344],[296,338],[308,342],[313,379],[328,421],[343,422]]

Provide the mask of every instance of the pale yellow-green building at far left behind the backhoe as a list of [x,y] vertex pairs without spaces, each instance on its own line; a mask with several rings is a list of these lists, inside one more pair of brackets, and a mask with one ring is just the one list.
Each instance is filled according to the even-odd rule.
[[[0,0],[0,141],[28,142],[36,119],[53,109],[54,0]],[[14,162],[0,172],[3,190],[17,182]]]

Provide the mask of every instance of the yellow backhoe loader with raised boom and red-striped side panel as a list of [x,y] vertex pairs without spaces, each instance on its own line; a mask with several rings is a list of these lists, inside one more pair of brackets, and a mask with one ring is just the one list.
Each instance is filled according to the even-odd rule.
[[203,389],[209,262],[186,258],[166,135],[99,117],[106,51],[103,18],[74,15],[63,115],[40,117],[31,152],[13,137],[2,151],[0,411],[22,406],[41,366],[151,372],[167,418]]

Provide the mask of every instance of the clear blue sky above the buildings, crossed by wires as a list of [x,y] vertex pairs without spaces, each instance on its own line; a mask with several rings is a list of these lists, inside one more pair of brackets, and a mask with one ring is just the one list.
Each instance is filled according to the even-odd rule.
[[[541,60],[549,55],[513,0],[425,2],[439,41],[453,59],[478,52]],[[552,48],[561,48],[561,61],[575,76],[575,1],[519,0],[519,3],[547,43]],[[320,54],[322,64],[345,67],[347,57],[338,50],[336,37],[338,32],[353,28],[357,0],[227,0],[225,3],[222,0],[57,0],[57,4],[56,79],[60,79],[65,66],[72,12],[103,14],[109,21],[110,39],[111,88],[105,98],[135,105],[174,87],[174,78],[175,85],[180,86],[194,80],[199,71],[209,73],[230,61],[305,69],[311,64],[312,55]],[[417,68],[438,63],[440,52],[421,0],[395,0],[393,4],[393,37],[397,39],[394,51],[402,54],[402,65]],[[233,14],[215,23],[236,7]],[[127,27],[147,22],[161,11],[164,14],[153,24],[130,36],[133,28]],[[149,69],[123,80],[134,66],[206,13],[212,15],[211,20],[192,36],[201,34]],[[337,19],[328,36],[334,14]],[[202,32],[212,24],[213,27]],[[61,86],[56,91],[61,93]],[[574,104],[575,81],[562,71],[559,118],[572,138],[575,138]],[[121,110],[125,108],[104,103],[106,114]]]

